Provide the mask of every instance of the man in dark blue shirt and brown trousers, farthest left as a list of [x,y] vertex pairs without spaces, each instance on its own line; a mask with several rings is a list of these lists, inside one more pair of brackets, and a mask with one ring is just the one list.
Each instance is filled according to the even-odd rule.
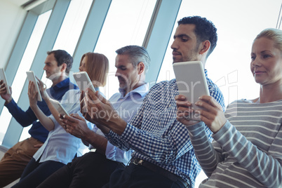
[[[48,88],[47,93],[51,98],[60,101],[67,90],[77,88],[74,83],[69,81],[68,77],[69,70],[72,69],[73,59],[69,53],[62,50],[49,51],[47,54],[43,69],[46,72],[46,77],[53,83],[51,88]],[[37,118],[30,107],[27,111],[20,109],[12,96],[6,93],[6,86],[4,83],[1,81],[0,84],[1,98],[6,101],[5,106],[15,120],[18,121],[22,127],[32,124],[32,127],[29,129],[31,137],[22,142],[18,142],[11,147],[11,149],[8,149],[0,161],[0,187],[4,187],[14,180],[17,180],[20,175],[22,175],[25,166],[27,166],[27,163],[29,163],[39,147],[43,145],[49,132],[46,128],[43,128],[39,121],[37,121]],[[37,104],[46,116],[51,115],[44,100]]]

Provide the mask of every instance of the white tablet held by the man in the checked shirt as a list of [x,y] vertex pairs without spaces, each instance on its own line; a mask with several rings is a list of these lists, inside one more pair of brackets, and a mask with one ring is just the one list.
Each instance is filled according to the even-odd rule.
[[93,92],[96,92],[93,83],[90,81],[90,78],[87,74],[87,72],[76,72],[74,73],[74,79],[77,83],[77,86],[79,86],[79,89],[82,91],[86,91],[87,88],[90,88],[93,90]]

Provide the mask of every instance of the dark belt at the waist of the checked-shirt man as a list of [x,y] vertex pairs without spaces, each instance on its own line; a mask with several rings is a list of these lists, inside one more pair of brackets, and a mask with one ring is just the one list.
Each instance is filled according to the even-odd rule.
[[174,173],[170,173],[170,171],[161,168],[160,166],[157,166],[148,161],[144,161],[142,159],[137,159],[133,157],[132,159],[130,159],[130,164],[135,164],[136,166],[144,166],[145,168],[152,170],[154,173],[158,173],[159,175],[163,175],[164,177],[167,177],[169,180],[172,180],[173,182],[179,181],[184,185],[184,187],[189,187],[189,182],[184,181],[182,177],[175,175]]

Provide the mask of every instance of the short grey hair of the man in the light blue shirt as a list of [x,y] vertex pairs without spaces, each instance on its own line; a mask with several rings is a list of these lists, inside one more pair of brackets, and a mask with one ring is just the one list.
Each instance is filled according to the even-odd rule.
[[146,48],[136,45],[124,46],[116,50],[116,53],[118,55],[128,55],[133,67],[136,67],[139,62],[143,62],[145,73],[148,71],[151,59]]

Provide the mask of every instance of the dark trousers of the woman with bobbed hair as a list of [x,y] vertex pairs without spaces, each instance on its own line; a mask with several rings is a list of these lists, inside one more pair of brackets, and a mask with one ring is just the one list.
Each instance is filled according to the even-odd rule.
[[23,171],[22,176],[20,177],[20,182],[15,184],[13,188],[37,187],[49,175],[62,168],[62,166],[65,166],[65,164],[57,161],[45,161],[43,163],[39,163],[32,158]]

